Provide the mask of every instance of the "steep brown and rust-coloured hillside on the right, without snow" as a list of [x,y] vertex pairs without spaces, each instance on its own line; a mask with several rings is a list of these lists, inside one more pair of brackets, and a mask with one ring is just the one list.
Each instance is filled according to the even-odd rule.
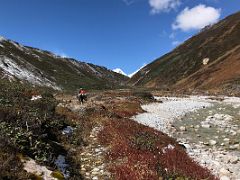
[[240,12],[204,28],[135,74],[130,83],[182,90],[240,89]]

